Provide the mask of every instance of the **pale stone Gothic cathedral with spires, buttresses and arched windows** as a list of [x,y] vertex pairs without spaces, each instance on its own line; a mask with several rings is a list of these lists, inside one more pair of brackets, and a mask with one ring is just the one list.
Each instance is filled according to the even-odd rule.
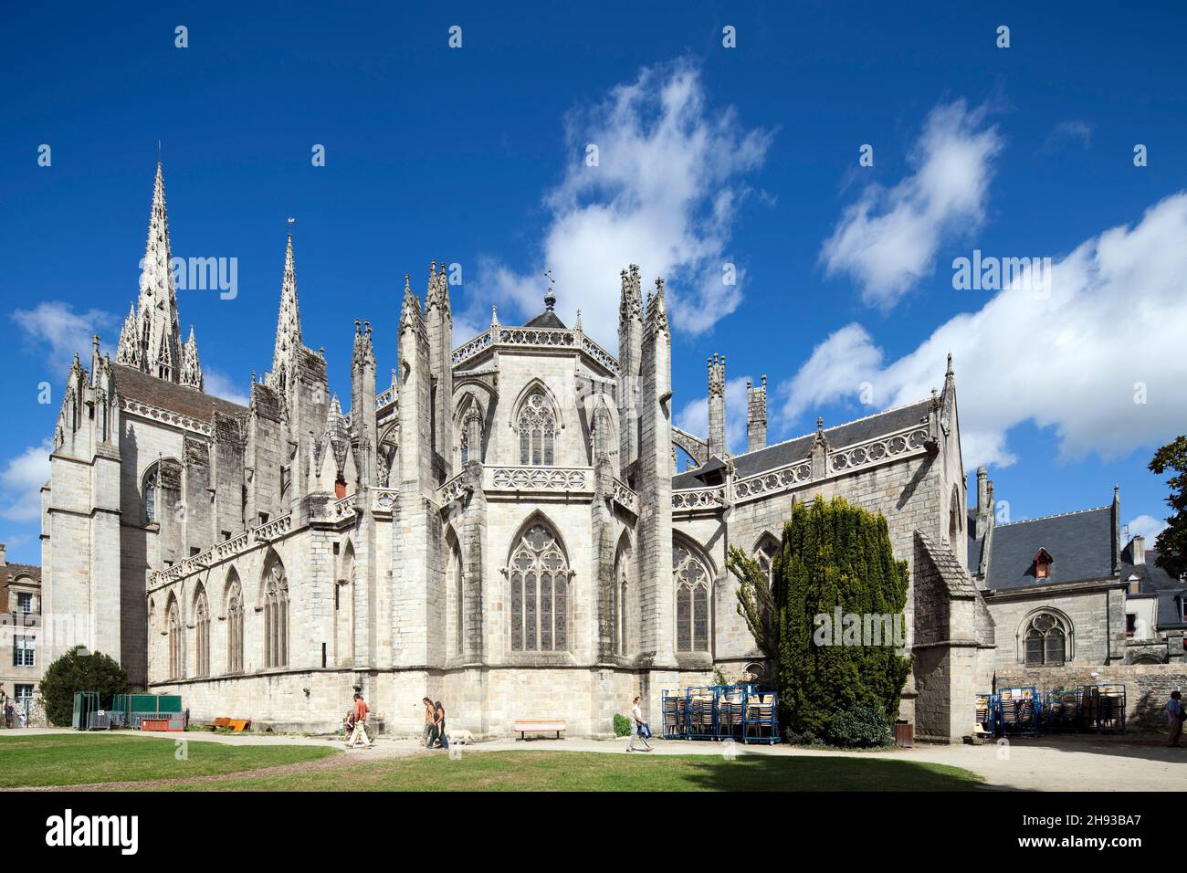
[[290,238],[272,368],[243,407],[203,392],[153,266],[167,254],[158,167],[139,305],[114,362],[97,341],[75,361],[55,432],[53,652],[118,656],[196,719],[330,730],[357,688],[396,733],[419,732],[427,694],[480,736],[558,716],[605,736],[636,694],[656,719],[666,688],[762,671],[726,550],[764,556],[795,501],[842,495],[887,518],[910,567],[903,716],[958,736],[947,701],[982,681],[992,626],[966,569],[951,360],[928,399],[774,445],[763,380],[730,456],[724,358],[709,435],[672,425],[662,279],[645,298],[622,272],[617,356],[557,317],[551,287],[527,324],[494,314],[455,347],[434,261],[423,304],[405,279],[382,391],[355,322],[343,412],[304,344]]

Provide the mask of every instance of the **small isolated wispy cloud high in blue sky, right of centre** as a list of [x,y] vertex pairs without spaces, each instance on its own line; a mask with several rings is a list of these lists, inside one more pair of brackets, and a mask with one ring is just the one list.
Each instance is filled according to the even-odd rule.
[[851,276],[867,303],[889,309],[932,273],[945,236],[982,223],[1002,148],[997,128],[984,127],[986,112],[964,100],[932,109],[909,156],[914,172],[890,189],[867,185],[825,240],[829,276]]

